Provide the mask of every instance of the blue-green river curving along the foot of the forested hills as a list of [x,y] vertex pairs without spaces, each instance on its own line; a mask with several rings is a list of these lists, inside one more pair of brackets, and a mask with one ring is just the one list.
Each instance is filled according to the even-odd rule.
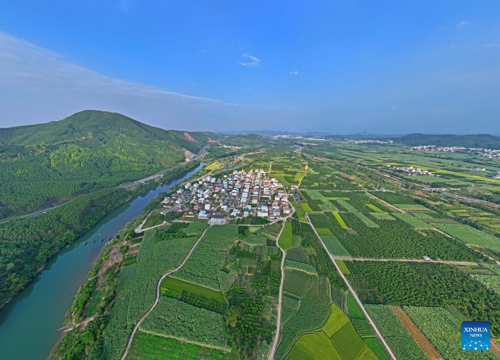
[[[45,268],[26,287],[0,309],[0,353],[8,360],[46,360],[62,336],[64,314],[71,306],[78,287],[86,280],[92,262],[105,241],[122,229],[159,192],[198,171],[204,162],[177,180],[159,185],[117,208],[94,227],[58,251]],[[91,244],[93,240],[97,240]],[[87,245],[83,245],[88,241]],[[74,245],[79,243],[78,247]]]

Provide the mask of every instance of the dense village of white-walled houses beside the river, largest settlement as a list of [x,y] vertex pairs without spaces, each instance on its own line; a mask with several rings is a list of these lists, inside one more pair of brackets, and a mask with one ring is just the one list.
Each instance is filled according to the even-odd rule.
[[275,220],[290,213],[283,185],[262,169],[234,170],[221,177],[206,175],[185,183],[161,203],[162,214],[183,211],[184,218],[208,219],[212,224],[247,216]]

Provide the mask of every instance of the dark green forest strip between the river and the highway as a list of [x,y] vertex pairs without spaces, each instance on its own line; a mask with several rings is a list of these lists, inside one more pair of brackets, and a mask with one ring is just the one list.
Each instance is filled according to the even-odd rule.
[[[168,181],[195,168],[191,161],[165,173]],[[64,245],[94,226],[130,196],[156,186],[142,184],[133,190],[106,188],[92,191],[36,217],[0,224],[0,306],[14,296],[36,271]]]

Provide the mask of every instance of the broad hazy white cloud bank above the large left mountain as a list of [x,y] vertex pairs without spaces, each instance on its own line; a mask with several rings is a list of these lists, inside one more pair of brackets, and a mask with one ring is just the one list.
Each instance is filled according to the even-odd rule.
[[[233,103],[182,94],[148,84],[106,76],[67,57],[0,31],[1,125],[38,122],[82,109],[116,111],[156,125],[175,115],[201,121],[203,114]],[[186,121],[174,125],[185,126]],[[185,128],[185,127],[184,127]]]

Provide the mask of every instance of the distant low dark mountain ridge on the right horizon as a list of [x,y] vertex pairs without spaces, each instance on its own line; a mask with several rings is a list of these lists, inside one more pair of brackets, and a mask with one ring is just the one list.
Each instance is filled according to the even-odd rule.
[[392,140],[407,145],[464,146],[500,149],[500,137],[489,134],[430,135],[423,133],[412,133],[409,135],[392,138]]

